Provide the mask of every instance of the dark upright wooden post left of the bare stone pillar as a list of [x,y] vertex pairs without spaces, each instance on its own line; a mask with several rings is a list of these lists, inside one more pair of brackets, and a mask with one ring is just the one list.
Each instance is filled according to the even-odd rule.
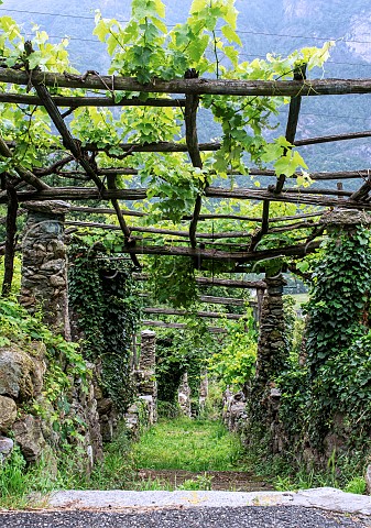
[[14,274],[14,256],[15,256],[15,243],[17,243],[17,212],[18,212],[18,199],[14,187],[7,184],[8,194],[8,213],[7,213],[7,239],[4,245],[4,275],[2,280],[1,295],[3,297],[9,296]]

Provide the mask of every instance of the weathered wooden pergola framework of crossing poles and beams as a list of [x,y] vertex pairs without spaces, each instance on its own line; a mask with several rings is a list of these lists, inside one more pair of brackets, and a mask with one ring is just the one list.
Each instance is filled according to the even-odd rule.
[[[0,65],[1,66],[1,65]],[[192,74],[192,72],[190,72]],[[188,75],[186,77],[193,77]],[[145,143],[145,144],[120,144],[121,160],[130,160],[130,155],[138,152],[174,153],[187,152],[194,167],[203,167],[201,152],[217,151],[220,143],[199,143],[197,136],[197,111],[203,95],[215,96],[239,96],[239,97],[277,97],[291,98],[285,138],[294,145],[315,145],[328,142],[342,142],[361,138],[370,138],[371,131],[357,133],[324,135],[317,138],[296,138],[297,122],[303,98],[306,97],[337,97],[340,95],[364,94],[365,98],[371,94],[370,79],[315,79],[308,80],[294,75],[293,80],[240,80],[240,79],[208,79],[208,78],[184,78],[164,81],[154,79],[146,85],[140,85],[134,78],[119,76],[101,76],[96,72],[87,72],[85,75],[43,73],[37,69],[32,72],[21,70],[17,67],[0,67],[0,82],[3,87],[0,92],[0,102],[22,106],[43,106],[48,113],[54,130],[51,134],[58,133],[62,139],[62,147],[50,152],[51,163],[43,167],[25,168],[22,164],[14,162],[12,173],[1,175],[2,190],[0,191],[0,204],[8,205],[7,241],[1,243],[0,251],[6,254],[6,276],[11,273],[14,253],[15,221],[20,213],[19,205],[43,201],[43,200],[66,200],[72,204],[69,211],[112,215],[116,213],[118,224],[98,223],[94,221],[81,222],[67,218],[66,224],[73,229],[88,227],[91,229],[121,230],[124,240],[122,253],[128,253],[134,265],[141,267],[140,255],[171,255],[192,258],[195,267],[203,268],[204,261],[215,261],[221,265],[222,271],[239,273],[243,271],[247,263],[259,262],[272,257],[303,257],[314,251],[320,244],[324,227],[318,222],[318,217],[328,208],[371,210],[370,190],[371,173],[368,168],[360,167],[352,172],[328,172],[312,173],[310,178],[315,182],[332,182],[336,188],[298,188],[293,185],[299,176],[295,173],[290,178],[279,175],[274,185],[265,188],[244,187],[228,188],[212,185],[209,182],[203,191],[197,196],[192,215],[184,216],[183,221],[188,222],[188,229],[168,229],[159,227],[135,226],[135,218],[145,216],[134,208],[122,207],[120,200],[127,204],[137,200],[144,200],[148,197],[148,188],[118,188],[116,178],[119,175],[138,174],[138,168],[107,167],[97,164],[96,155],[105,152],[109,156],[109,145],[101,147],[94,142],[81,144],[76,140],[68,128],[68,116],[80,107],[181,107],[184,109],[185,139],[183,141]],[[12,90],[12,86],[28,88],[28,92],[19,94]],[[63,89],[76,90],[77,95],[63,95]],[[92,94],[81,96],[81,90],[94,90]],[[122,98],[119,102],[114,98],[116,90],[126,92],[151,94],[146,100],[140,98]],[[168,98],[156,98],[156,95],[168,95]],[[62,110],[66,109],[66,110]],[[0,156],[2,158],[13,157],[14,144],[0,138]],[[117,145],[116,145],[117,146]],[[78,164],[78,169],[72,170],[69,164]],[[249,167],[249,174],[260,178],[275,176],[272,169]],[[54,175],[55,185],[44,182],[46,176]],[[211,175],[212,176],[212,175]],[[215,174],[212,177],[217,177]],[[65,178],[73,178],[74,185],[64,186]],[[359,182],[358,190],[347,190],[342,182],[354,179]],[[7,183],[8,182],[8,183]],[[203,198],[262,201],[261,217],[245,217],[230,212],[218,215],[210,211],[203,211]],[[79,201],[101,201],[100,207],[81,207]],[[310,212],[298,212],[297,215],[274,217],[270,213],[271,202],[285,202],[316,206],[317,209]],[[111,207],[108,207],[108,204]],[[203,221],[208,219],[227,218],[237,220],[242,226],[238,231],[206,232],[203,230]],[[130,223],[128,223],[130,219]],[[243,229],[243,222],[254,223],[251,231]],[[284,245],[277,243],[270,249],[259,249],[260,241],[271,233],[285,233],[290,231],[305,230],[304,239],[295,244]],[[172,235],[176,244],[148,243],[141,237],[143,233],[154,235]],[[243,240],[233,244],[229,242],[223,249],[215,249],[216,242],[222,244],[223,239]],[[245,242],[244,242],[245,241]],[[201,282],[203,278],[200,277]],[[207,280],[207,278],[205,278]],[[227,286],[227,282],[225,285]],[[233,280],[230,280],[232,286]],[[215,282],[212,282],[215,284]],[[244,287],[264,289],[263,282],[245,283]],[[228,302],[228,299],[226,300]],[[149,311],[153,314],[153,311]],[[203,317],[203,315],[201,315]],[[207,316],[205,316],[207,317]],[[210,316],[209,316],[210,317]],[[151,321],[148,321],[151,323]],[[152,321],[153,322],[153,321]],[[218,330],[216,330],[218,331]]]

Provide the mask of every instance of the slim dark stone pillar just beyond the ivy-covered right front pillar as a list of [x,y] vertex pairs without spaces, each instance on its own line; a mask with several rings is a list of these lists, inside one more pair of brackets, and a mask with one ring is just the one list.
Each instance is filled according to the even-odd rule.
[[262,302],[257,358],[257,383],[264,386],[280,374],[286,362],[286,340],[281,274],[265,277],[266,292]]

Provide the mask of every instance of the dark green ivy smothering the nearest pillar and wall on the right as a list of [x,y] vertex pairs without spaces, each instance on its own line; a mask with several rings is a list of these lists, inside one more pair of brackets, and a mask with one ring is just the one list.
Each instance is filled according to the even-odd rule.
[[364,448],[369,438],[370,266],[369,229],[334,228],[314,266],[305,362],[296,358],[277,381],[282,421],[292,438],[319,451],[330,431],[348,449]]

